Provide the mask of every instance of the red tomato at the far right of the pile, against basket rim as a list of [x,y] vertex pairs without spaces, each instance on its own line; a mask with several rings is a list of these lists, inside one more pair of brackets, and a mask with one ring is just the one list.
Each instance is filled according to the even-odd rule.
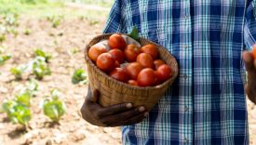
[[156,70],[156,77],[162,83],[168,80],[168,78],[172,75],[171,69],[167,64],[163,64],[158,67]]

